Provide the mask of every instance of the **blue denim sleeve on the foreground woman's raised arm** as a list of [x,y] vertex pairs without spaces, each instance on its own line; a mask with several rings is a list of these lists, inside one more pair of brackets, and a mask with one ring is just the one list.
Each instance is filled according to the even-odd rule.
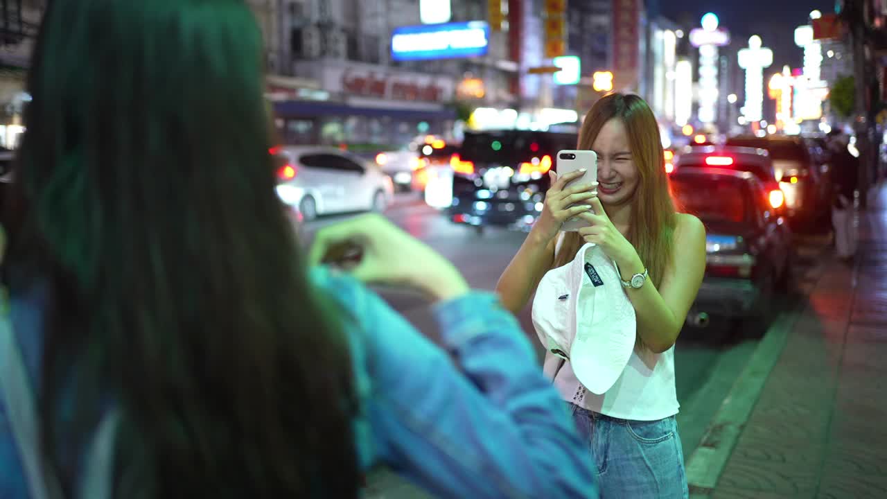
[[349,277],[315,269],[350,324],[365,466],[441,497],[597,497],[591,455],[511,313],[473,291],[434,307],[450,355]]

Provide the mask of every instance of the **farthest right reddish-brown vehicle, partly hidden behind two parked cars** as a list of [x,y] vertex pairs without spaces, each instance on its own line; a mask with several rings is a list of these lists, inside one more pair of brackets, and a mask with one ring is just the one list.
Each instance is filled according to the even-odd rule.
[[759,147],[770,152],[773,173],[785,193],[789,218],[808,224],[828,218],[831,186],[822,175],[821,165],[797,136],[737,136],[726,140],[727,146]]

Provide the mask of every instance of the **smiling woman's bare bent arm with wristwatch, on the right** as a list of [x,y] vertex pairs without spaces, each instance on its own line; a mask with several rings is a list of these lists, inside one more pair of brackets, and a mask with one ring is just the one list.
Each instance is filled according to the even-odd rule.
[[[677,217],[671,262],[659,289],[649,279],[640,289],[625,289],[634,306],[638,334],[654,352],[668,350],[678,339],[705,273],[705,227],[693,215],[679,213]],[[644,268],[637,252],[629,261],[619,262],[624,281],[631,281]]]

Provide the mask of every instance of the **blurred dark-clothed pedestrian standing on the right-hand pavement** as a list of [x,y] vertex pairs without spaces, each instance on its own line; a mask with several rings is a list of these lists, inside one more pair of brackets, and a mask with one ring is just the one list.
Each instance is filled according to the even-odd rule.
[[828,132],[832,171],[832,226],[837,257],[851,263],[856,255],[857,231],[854,200],[860,175],[860,160],[847,149],[850,138],[839,130]]

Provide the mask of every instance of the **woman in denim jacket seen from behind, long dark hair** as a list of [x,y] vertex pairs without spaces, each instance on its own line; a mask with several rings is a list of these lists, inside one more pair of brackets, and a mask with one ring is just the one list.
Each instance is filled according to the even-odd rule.
[[[594,495],[494,295],[379,216],[310,256],[357,262],[307,269],[262,54],[242,0],[51,3],[4,211],[0,496],[355,497],[379,462],[444,496]],[[451,352],[361,281],[424,291]]]

